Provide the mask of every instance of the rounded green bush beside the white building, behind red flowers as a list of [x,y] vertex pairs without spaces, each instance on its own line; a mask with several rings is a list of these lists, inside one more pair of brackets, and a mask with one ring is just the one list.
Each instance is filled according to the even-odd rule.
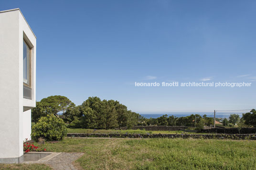
[[39,138],[47,141],[62,140],[66,135],[67,129],[64,121],[53,114],[42,117],[32,126],[31,138],[36,141]]

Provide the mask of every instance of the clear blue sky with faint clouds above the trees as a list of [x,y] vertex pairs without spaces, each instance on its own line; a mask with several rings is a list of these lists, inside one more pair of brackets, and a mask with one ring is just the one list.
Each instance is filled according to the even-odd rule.
[[[37,36],[38,101],[97,96],[137,112],[256,108],[254,0],[0,1],[0,10],[13,8]],[[252,86],[134,86],[201,80]]]

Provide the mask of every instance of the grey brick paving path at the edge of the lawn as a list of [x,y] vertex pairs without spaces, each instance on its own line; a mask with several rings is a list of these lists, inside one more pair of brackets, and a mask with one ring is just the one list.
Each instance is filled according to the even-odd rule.
[[77,160],[84,153],[60,153],[50,160],[44,162],[44,164],[50,165],[54,170],[76,170],[73,161]]

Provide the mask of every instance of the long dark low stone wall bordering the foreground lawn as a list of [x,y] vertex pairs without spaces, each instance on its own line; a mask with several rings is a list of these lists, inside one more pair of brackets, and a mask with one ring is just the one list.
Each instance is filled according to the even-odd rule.
[[183,139],[231,139],[256,140],[256,134],[100,134],[100,133],[68,133],[67,137],[95,138],[183,138]]

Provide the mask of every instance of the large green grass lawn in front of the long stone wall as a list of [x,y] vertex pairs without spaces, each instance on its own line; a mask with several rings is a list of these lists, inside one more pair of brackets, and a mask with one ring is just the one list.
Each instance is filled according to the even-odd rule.
[[47,151],[84,152],[85,170],[255,170],[256,141],[65,138]]

